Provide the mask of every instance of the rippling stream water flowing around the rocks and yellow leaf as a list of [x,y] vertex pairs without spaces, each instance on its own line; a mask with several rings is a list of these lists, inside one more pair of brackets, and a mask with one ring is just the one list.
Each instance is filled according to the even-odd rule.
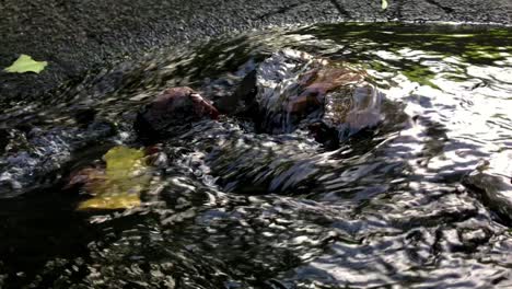
[[[337,150],[244,115],[203,120],[160,144],[138,206],[80,209],[69,172],[141,148],[131,125],[149,99],[221,99],[286,47],[365,69],[386,119]],[[253,32],[0,105],[3,288],[512,288],[509,27]]]

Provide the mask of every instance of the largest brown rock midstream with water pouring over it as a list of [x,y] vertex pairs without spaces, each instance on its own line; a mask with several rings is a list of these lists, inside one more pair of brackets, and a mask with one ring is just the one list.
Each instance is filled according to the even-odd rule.
[[[256,71],[256,96],[263,120],[270,134],[291,132],[313,123],[317,139],[322,131],[338,131],[344,139],[382,120],[383,95],[369,82],[364,71],[333,66],[326,60],[292,49],[267,58]],[[329,129],[327,129],[329,128]]]

